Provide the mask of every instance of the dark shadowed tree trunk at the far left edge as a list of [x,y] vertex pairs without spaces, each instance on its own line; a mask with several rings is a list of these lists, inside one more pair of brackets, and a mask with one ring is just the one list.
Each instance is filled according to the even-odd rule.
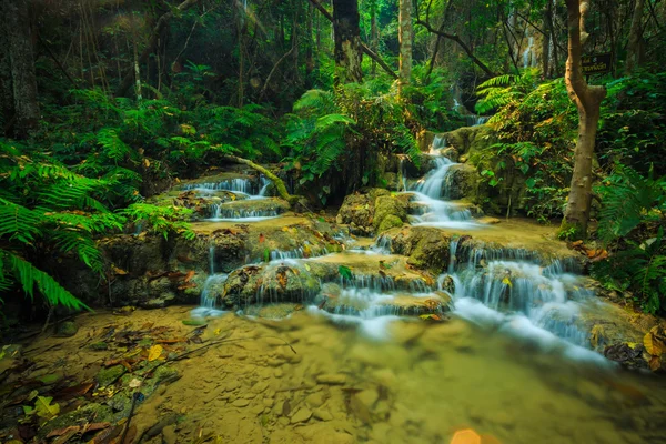
[[[39,104],[37,102],[37,79],[34,77],[34,56],[32,52],[32,36],[30,20],[28,18],[27,0],[1,0],[0,13],[7,40],[2,42],[7,48],[4,54],[9,54],[11,67],[11,95],[13,98],[13,131],[12,135],[23,139],[39,125]],[[7,68],[7,58],[4,67]],[[4,85],[7,79],[2,79],[4,94],[9,89]],[[3,98],[4,99],[4,98]],[[11,107],[3,105],[6,111]]]

